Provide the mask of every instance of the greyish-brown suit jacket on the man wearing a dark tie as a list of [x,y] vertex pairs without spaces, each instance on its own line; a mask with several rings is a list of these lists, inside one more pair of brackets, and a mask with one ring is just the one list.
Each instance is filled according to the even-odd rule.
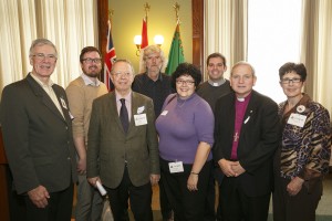
[[[134,115],[144,107],[147,125],[135,126]],[[87,136],[87,177],[100,176],[103,185],[116,188],[123,178],[125,158],[131,181],[139,187],[149,182],[149,175],[159,175],[159,152],[155,129],[154,105],[151,98],[132,92],[132,116],[124,133],[115,93],[96,98]]]

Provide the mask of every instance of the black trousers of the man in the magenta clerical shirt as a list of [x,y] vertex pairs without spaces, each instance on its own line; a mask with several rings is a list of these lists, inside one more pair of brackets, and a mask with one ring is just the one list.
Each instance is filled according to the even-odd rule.
[[219,187],[222,221],[267,221],[271,194],[248,197],[238,181],[224,177]]

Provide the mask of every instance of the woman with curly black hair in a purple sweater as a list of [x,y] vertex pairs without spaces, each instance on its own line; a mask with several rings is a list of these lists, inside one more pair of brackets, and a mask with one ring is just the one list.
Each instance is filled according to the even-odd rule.
[[181,63],[172,75],[176,88],[156,120],[162,179],[175,221],[204,220],[211,172],[215,118],[209,104],[195,91],[200,71]]

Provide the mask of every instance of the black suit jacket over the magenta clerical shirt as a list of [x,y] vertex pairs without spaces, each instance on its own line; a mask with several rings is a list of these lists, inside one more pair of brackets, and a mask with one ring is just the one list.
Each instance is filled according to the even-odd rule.
[[[215,110],[214,159],[230,160],[235,129],[235,93],[220,97]],[[249,120],[245,124],[245,120]],[[280,140],[278,105],[255,91],[249,101],[238,145],[238,160],[246,172],[238,179],[249,197],[272,188],[272,156]]]

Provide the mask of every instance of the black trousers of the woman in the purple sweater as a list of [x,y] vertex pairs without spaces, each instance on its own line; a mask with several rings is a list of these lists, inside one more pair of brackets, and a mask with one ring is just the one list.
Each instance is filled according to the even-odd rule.
[[184,172],[170,173],[168,162],[160,158],[162,179],[170,207],[174,209],[174,220],[203,221],[211,161],[206,162],[199,172],[197,191],[189,191],[187,188],[193,165],[184,165]]

